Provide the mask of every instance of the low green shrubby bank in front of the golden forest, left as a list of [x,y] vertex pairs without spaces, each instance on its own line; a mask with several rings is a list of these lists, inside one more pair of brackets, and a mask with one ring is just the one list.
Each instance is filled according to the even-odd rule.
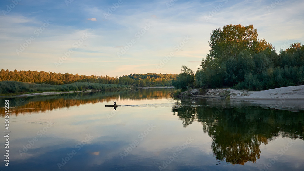
[[130,88],[128,85],[119,84],[100,84],[91,82],[75,82],[64,85],[36,84],[18,81],[1,81],[0,95],[3,94],[24,94],[35,92],[51,92],[51,91],[79,91],[79,90],[102,90],[111,91],[117,89]]

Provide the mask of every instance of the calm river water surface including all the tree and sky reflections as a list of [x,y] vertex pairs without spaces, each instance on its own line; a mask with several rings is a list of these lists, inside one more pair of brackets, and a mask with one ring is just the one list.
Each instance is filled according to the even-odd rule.
[[[172,89],[1,98],[3,170],[304,170],[303,101],[170,99]],[[106,104],[122,105],[117,110]],[[281,104],[281,103],[279,103]]]

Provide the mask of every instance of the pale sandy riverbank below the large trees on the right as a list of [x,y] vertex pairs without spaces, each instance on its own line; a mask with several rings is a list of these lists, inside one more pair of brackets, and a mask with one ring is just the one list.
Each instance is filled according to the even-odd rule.
[[304,100],[304,85],[281,87],[264,91],[234,89],[191,89],[181,92],[178,97],[217,98],[217,99],[292,99]]

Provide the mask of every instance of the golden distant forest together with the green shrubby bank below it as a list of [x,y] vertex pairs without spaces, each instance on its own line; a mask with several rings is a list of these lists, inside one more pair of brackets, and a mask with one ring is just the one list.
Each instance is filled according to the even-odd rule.
[[86,76],[44,71],[0,70],[0,94],[48,91],[113,91],[130,87],[172,86],[177,74],[129,74],[121,77]]

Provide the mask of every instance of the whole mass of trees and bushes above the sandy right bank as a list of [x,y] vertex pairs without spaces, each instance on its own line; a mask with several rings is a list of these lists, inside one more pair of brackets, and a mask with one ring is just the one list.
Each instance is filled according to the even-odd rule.
[[211,50],[193,72],[182,66],[173,85],[193,87],[265,90],[304,85],[304,45],[292,43],[277,53],[265,39],[257,39],[252,25],[226,25],[210,34]]

